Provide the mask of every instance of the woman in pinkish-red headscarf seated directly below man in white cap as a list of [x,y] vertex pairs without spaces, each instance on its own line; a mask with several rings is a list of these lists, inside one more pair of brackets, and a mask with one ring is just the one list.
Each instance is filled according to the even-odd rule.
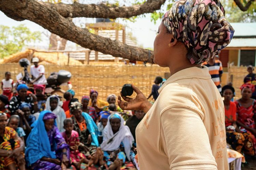
[[41,84],[37,84],[34,87],[35,96],[37,97],[37,106],[38,106],[38,112],[42,112],[45,109],[45,102],[47,97],[43,94],[44,86]]

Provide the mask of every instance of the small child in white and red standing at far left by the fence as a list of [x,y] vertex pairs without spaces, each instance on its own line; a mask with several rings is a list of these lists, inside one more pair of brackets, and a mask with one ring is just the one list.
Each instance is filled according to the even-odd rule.
[[5,72],[5,79],[2,80],[3,95],[7,96],[10,100],[12,98],[13,80],[11,79],[11,73]]

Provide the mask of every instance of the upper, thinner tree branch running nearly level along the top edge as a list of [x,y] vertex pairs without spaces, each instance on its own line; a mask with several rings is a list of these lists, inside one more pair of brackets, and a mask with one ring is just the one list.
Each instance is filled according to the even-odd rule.
[[67,18],[86,17],[86,18],[130,18],[145,13],[152,13],[159,10],[166,0],[147,0],[143,4],[121,7],[110,7],[104,4],[73,4],[64,3],[44,3],[56,10],[61,16]]

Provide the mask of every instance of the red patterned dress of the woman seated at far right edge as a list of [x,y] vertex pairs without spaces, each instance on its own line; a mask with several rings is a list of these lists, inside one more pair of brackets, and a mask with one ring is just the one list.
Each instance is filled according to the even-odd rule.
[[[242,106],[238,101],[235,102],[237,104],[237,120],[245,124],[250,128],[255,129],[255,121],[254,114],[256,113],[256,102],[253,100],[253,103],[249,107]],[[255,155],[256,150],[256,138],[250,132],[241,127],[241,132],[245,138],[244,144],[244,153],[246,155]]]

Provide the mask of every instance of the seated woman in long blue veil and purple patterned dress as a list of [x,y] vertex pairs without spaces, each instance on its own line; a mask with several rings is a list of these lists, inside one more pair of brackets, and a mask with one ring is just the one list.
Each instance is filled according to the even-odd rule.
[[69,146],[59,132],[55,114],[42,111],[27,138],[25,151],[31,169],[66,169],[69,165]]

